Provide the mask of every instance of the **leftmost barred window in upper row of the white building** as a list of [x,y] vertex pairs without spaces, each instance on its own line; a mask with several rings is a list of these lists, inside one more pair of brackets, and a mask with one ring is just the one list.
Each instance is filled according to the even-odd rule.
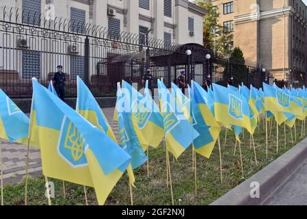
[[23,0],[23,23],[40,25],[41,0]]

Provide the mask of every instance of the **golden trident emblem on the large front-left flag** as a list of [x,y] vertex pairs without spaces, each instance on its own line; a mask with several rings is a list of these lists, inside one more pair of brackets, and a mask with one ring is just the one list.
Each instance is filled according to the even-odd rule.
[[85,140],[82,138],[82,135],[77,131],[75,125],[72,127],[72,123],[70,122],[65,137],[64,148],[70,150],[72,159],[75,162],[81,159],[84,154],[84,143]]

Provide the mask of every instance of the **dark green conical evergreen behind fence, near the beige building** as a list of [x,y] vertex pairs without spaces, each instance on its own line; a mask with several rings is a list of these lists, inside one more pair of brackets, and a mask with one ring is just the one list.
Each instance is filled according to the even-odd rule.
[[229,64],[225,65],[223,77],[224,81],[230,79],[230,66],[232,71],[232,76],[234,78],[235,86],[241,85],[241,83],[246,83],[247,81],[247,68],[245,66],[245,59],[242,50],[239,47],[235,47],[232,53],[230,53]]

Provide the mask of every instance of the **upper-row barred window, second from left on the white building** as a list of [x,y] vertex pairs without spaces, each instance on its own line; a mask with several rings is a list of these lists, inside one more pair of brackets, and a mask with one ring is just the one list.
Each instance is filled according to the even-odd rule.
[[71,31],[77,33],[85,32],[85,10],[70,8]]

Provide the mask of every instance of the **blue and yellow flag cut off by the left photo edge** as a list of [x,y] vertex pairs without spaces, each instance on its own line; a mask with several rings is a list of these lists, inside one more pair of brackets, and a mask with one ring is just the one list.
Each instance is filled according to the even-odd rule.
[[29,118],[0,89],[0,138],[27,144]]

